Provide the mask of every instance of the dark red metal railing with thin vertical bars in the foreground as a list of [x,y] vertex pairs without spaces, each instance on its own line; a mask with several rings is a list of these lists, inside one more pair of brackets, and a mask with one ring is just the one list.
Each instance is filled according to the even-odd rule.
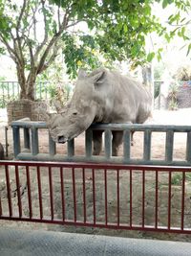
[[0,162],[0,220],[191,233],[191,167]]

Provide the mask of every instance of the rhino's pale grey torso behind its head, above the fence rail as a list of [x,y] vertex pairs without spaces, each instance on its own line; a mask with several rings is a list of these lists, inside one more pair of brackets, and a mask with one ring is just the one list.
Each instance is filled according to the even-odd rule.
[[98,122],[143,123],[150,115],[151,95],[132,77],[122,76],[116,71],[107,71],[104,84],[98,86],[97,90],[104,99],[102,117],[98,117]]

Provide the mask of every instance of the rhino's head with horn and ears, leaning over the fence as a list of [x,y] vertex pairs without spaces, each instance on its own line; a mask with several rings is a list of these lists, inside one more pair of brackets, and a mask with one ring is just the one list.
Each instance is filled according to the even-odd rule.
[[53,141],[65,143],[78,136],[94,122],[100,99],[96,85],[103,81],[104,71],[87,76],[79,72],[71,102],[49,118],[48,126]]

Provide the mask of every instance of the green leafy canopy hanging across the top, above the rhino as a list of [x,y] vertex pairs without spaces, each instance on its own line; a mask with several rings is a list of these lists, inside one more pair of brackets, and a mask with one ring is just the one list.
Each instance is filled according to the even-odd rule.
[[[40,49],[40,53],[35,60],[43,57],[43,61],[50,64],[49,59],[54,50],[53,57],[56,55],[53,46],[62,47],[64,61],[72,78],[76,76],[79,66],[92,69],[101,64],[112,65],[116,60],[128,60],[133,66],[137,66],[150,62],[153,58],[160,59],[161,48],[148,55],[145,52],[145,38],[153,32],[164,36],[167,42],[175,35],[186,42],[190,39],[186,30],[189,20],[182,16],[182,12],[190,11],[189,0],[157,0],[162,8],[169,5],[177,8],[168,17],[170,32],[153,15],[153,0],[32,0],[27,1],[16,33],[24,2],[13,2],[0,0],[0,33],[11,46],[12,35],[18,34],[18,38],[14,38],[14,44],[20,42],[19,47],[16,46],[22,53],[17,56],[23,57],[24,66],[31,68],[32,52],[35,53],[37,49]],[[61,35],[58,31],[63,20],[66,24]],[[82,22],[88,29],[84,30]],[[40,36],[37,36],[36,26],[39,23],[41,29],[37,32],[40,31]],[[58,43],[58,39],[54,40],[56,35],[61,37],[61,43]],[[44,57],[45,49],[52,39],[53,45],[49,54]],[[189,44],[187,54],[190,54],[190,50]]]

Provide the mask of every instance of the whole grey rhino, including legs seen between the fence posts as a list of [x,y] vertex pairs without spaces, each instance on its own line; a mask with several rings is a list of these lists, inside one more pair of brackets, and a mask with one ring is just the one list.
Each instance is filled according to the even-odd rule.
[[[150,116],[151,94],[131,77],[99,68],[89,76],[80,72],[71,102],[50,119],[53,141],[65,143],[92,123],[142,124]],[[102,131],[93,131],[94,154],[99,154]],[[113,155],[122,143],[122,132],[113,131]]]

